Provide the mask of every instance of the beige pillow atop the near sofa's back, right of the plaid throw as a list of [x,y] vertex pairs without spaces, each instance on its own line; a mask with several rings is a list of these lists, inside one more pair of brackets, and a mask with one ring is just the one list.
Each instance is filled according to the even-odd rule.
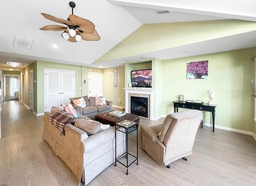
[[95,120],[86,120],[86,119],[77,119],[74,126],[84,130],[88,134],[88,136],[92,134],[96,134],[102,130],[106,130],[110,127],[110,125],[104,125]]

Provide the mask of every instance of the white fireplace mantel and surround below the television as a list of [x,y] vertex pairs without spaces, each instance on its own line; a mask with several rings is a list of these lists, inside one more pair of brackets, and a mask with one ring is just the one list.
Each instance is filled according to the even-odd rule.
[[125,90],[125,110],[126,113],[130,113],[130,96],[132,94],[142,94],[144,96],[148,95],[150,106],[149,119],[153,120],[153,110],[154,110],[154,90],[152,89],[142,89],[142,88],[124,88]]

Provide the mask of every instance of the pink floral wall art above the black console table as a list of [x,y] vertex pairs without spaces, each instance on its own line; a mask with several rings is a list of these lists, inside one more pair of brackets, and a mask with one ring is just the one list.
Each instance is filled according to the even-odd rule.
[[208,79],[208,61],[187,63],[187,79]]

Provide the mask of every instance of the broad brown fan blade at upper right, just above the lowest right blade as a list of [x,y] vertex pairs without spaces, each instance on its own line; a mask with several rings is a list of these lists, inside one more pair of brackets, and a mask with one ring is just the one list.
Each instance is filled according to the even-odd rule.
[[91,21],[84,18],[80,18],[73,14],[69,15],[68,18],[75,25],[79,26],[79,30],[82,30],[83,32],[90,33],[90,34],[94,33],[95,25]]

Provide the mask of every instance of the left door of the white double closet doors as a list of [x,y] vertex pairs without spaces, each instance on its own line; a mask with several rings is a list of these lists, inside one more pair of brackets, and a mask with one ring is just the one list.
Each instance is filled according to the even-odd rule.
[[46,70],[46,111],[52,106],[60,108],[61,104],[61,71]]

